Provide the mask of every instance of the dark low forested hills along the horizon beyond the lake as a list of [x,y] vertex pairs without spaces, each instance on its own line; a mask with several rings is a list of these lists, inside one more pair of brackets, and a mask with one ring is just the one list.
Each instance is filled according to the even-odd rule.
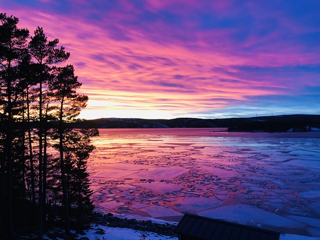
[[320,128],[320,115],[293,114],[234,118],[99,118],[72,123],[78,128],[227,127],[229,131],[308,131]]

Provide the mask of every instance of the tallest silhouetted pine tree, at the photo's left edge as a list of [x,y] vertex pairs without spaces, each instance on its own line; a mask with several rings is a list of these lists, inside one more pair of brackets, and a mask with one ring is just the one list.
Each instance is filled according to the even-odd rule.
[[[0,121],[1,136],[4,138],[0,165],[0,220],[1,225],[7,224],[9,237],[13,239],[13,141],[14,141],[14,118],[16,112],[17,97],[19,92],[16,85],[18,78],[16,67],[23,57],[26,47],[28,30],[17,28],[18,18],[6,16],[0,13]],[[4,206],[7,206],[4,208]],[[6,218],[7,214],[7,218]],[[1,229],[4,227],[1,227]]]

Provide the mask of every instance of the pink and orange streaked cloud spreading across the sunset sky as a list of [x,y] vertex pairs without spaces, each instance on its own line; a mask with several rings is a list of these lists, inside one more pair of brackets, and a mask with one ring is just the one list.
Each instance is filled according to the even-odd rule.
[[[172,24],[153,15],[152,21],[138,24],[143,9],[132,1],[121,1],[123,8],[97,12],[99,19],[89,19],[93,10],[83,8],[88,4],[82,1],[75,7],[83,15],[7,9],[31,35],[37,25],[43,26],[49,39],[59,38],[70,52],[67,63],[75,65],[82,82],[80,92],[90,98],[86,112],[104,109],[104,114],[121,115],[139,110],[146,114],[154,109],[173,116],[229,107],[252,96],[295,94],[301,82],[316,85],[312,74],[292,77],[250,70],[320,63],[318,52],[306,52],[305,46],[280,39],[281,27],[292,26],[289,20],[264,35],[247,32],[238,40],[233,37],[239,33],[236,26],[199,28],[200,23],[187,15],[194,8],[203,9],[194,1],[183,1],[181,8],[187,14],[177,9],[178,1],[145,1],[153,14],[166,9],[178,12],[182,21]],[[232,4],[217,1],[209,9],[227,11]],[[254,19],[263,18],[257,14]],[[272,17],[277,19],[278,13]],[[265,29],[265,24],[256,21],[255,27]]]

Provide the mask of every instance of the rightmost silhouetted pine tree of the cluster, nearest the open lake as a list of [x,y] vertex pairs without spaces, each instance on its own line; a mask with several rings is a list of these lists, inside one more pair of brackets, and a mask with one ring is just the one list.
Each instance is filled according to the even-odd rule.
[[[63,202],[65,207],[66,233],[69,230],[69,208],[75,208],[80,214],[92,211],[91,190],[88,187],[86,159],[94,149],[89,144],[90,138],[98,134],[97,129],[68,128],[67,123],[75,120],[80,110],[86,106],[88,97],[76,93],[81,86],[74,76],[72,65],[53,69],[55,77],[49,81],[49,89],[56,104],[58,127],[53,145],[59,151]],[[80,219],[78,217],[78,219]]]

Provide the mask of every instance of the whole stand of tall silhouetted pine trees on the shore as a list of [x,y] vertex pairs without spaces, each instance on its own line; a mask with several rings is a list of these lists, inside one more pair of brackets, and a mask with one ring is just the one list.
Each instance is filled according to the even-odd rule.
[[73,66],[61,66],[70,54],[18,21],[0,13],[0,239],[42,239],[53,225],[69,238],[93,210],[86,160],[98,131],[68,125],[88,100]]

